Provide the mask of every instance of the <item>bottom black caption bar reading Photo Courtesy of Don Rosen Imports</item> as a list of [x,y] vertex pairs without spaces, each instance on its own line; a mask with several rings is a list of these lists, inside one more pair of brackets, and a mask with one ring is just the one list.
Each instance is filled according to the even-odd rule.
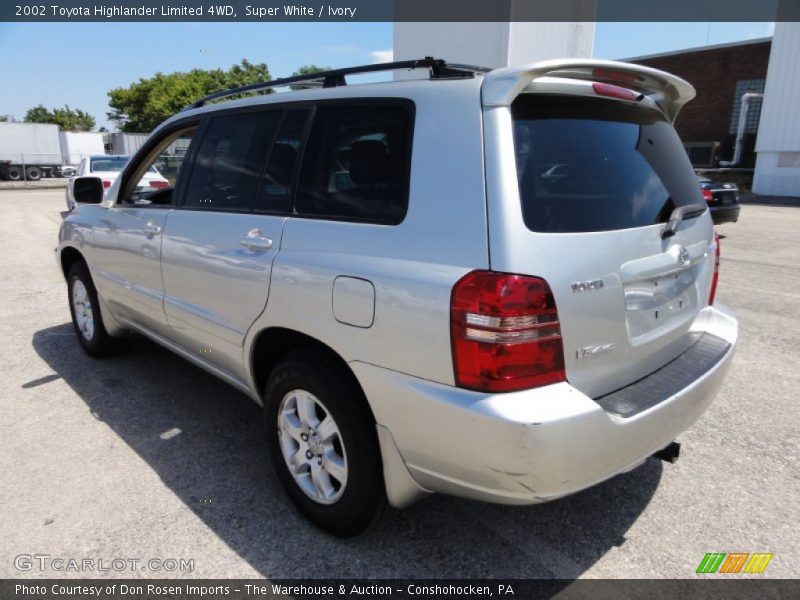
[[3,600],[351,600],[797,598],[800,582],[714,575],[695,579],[2,579]]

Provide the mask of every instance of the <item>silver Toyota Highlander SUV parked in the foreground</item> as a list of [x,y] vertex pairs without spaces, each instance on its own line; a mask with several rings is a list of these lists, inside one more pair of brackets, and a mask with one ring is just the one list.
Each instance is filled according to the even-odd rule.
[[[345,85],[378,68],[428,77]],[[75,180],[86,352],[136,332],[250,395],[340,536],[430,492],[532,504],[674,459],[737,339],[671,125],[693,88],[591,60],[311,77],[197,101],[105,198]]]

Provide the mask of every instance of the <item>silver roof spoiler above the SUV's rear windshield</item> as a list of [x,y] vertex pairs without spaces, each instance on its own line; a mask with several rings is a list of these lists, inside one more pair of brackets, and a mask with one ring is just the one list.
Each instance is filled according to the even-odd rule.
[[652,98],[670,121],[674,121],[681,107],[695,96],[689,82],[658,69],[614,60],[573,58],[504,67],[486,73],[481,87],[483,106],[510,106],[525,87],[540,77],[598,81],[636,90]]

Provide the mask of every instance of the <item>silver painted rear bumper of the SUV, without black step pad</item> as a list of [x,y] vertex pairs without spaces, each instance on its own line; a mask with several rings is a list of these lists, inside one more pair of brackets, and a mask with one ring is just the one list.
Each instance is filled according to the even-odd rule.
[[[483,394],[366,363],[352,366],[377,422],[391,432],[418,486],[534,504],[637,466],[700,417],[730,366],[736,318],[715,305],[698,315],[693,331],[727,342],[719,359],[679,391],[628,418],[606,412],[566,382]],[[396,483],[387,480],[387,488]]]

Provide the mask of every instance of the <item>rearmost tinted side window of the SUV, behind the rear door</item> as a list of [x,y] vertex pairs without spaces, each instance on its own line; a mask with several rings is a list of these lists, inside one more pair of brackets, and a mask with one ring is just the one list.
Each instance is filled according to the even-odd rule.
[[400,104],[319,107],[303,155],[296,212],[400,223],[408,204],[411,119]]

